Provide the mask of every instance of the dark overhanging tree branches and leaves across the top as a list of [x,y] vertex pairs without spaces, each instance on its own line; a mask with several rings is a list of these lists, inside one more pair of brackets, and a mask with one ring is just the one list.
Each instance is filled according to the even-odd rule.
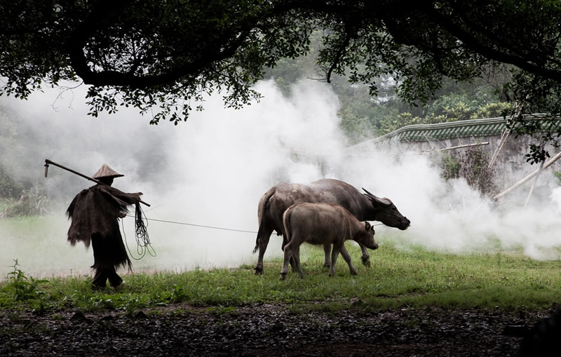
[[[377,95],[391,76],[400,97],[423,103],[443,76],[473,81],[508,65],[513,128],[560,135],[558,1],[12,0],[0,18],[0,94],[81,82],[94,116],[124,105],[177,123],[215,91],[241,107],[259,98],[251,86],[264,69],[309,53],[320,29],[326,81],[347,76]],[[545,127],[523,119],[538,112],[552,115]],[[546,155],[538,146],[534,159]]]

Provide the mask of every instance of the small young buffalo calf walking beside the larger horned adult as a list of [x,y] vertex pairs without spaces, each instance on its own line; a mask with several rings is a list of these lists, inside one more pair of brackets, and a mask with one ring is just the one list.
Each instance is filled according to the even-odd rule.
[[351,274],[357,274],[351,263],[351,255],[345,249],[345,241],[352,239],[367,248],[378,248],[378,244],[374,241],[374,227],[368,222],[360,222],[348,210],[333,203],[295,203],[285,210],[283,225],[287,243],[283,248],[285,259],[283,269],[280,271],[280,280],[286,278],[290,257],[295,260],[300,278],[304,277],[300,266],[300,245],[304,242],[333,245],[330,276],[335,274],[335,262],[339,252],[349,264]]

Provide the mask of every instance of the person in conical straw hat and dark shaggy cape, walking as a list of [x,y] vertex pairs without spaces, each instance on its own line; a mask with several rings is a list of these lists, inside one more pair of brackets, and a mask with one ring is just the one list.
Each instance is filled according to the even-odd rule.
[[139,206],[142,193],[126,194],[111,187],[113,179],[122,176],[103,164],[92,176],[100,183],[82,190],[67,209],[67,215],[72,220],[68,229],[68,241],[71,245],[83,241],[86,248],[91,243],[93,248],[93,289],[104,288],[107,279],[109,285],[119,288],[123,279],[116,269],[131,269],[118,220],[126,216],[127,206]]

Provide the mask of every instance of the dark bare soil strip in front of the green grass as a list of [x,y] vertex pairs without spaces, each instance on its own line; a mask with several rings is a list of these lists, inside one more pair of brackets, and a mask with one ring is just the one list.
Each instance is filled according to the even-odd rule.
[[0,311],[1,356],[516,356],[550,311],[299,312],[290,305]]

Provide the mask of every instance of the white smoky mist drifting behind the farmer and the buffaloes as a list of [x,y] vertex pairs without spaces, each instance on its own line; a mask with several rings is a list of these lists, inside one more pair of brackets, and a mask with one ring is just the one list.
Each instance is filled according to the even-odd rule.
[[[499,206],[471,189],[465,180],[445,182],[427,156],[369,156],[344,153],[339,105],[329,86],[299,83],[292,97],[281,95],[271,81],[257,84],[264,95],[241,110],[224,109],[219,96],[205,102],[187,122],[150,126],[133,110],[87,116],[85,88],[58,98],[54,90],[34,93],[28,101],[0,98],[25,123],[33,144],[10,163],[30,180],[47,184],[52,196],[67,203],[91,182],[51,166],[50,159],[87,175],[107,163],[125,176],[114,187],[142,191],[156,257],[133,261],[135,270],[175,270],[255,264],[257,203],[278,182],[311,182],[322,177],[345,180],[377,196],[391,198],[412,221],[407,231],[377,226],[377,241],[392,239],[406,249],[493,252],[522,250],[537,259],[557,259],[561,245],[561,192],[539,207]],[[51,107],[54,102],[54,108]],[[521,189],[522,191],[524,189]],[[521,191],[521,192],[522,192]],[[174,223],[172,223],[174,222]],[[249,232],[196,227],[238,229]],[[18,231],[0,222],[6,249],[0,252],[0,274],[13,259],[25,271],[88,274],[92,252],[66,242],[63,210],[49,216],[45,227]],[[123,220],[132,255],[136,256],[133,219]],[[386,238],[384,238],[386,237]],[[383,245],[381,245],[383,249]],[[268,257],[280,256],[280,240],[271,238]],[[375,258],[374,258],[375,259]],[[280,269],[280,267],[279,267]]]

